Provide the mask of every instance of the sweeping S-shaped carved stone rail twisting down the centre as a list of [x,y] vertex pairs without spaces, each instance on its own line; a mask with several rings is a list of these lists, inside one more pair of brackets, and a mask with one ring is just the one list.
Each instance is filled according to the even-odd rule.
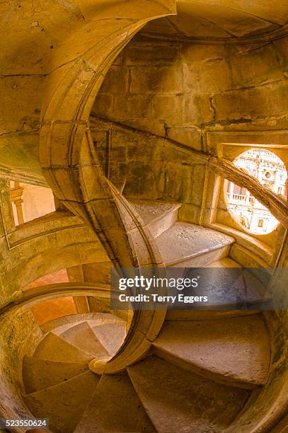
[[[115,267],[153,268],[163,265],[154,240],[105,178],[88,129],[93,101],[117,54],[146,23],[175,13],[173,0],[132,0],[126,6],[125,2],[113,4],[105,20],[103,8],[101,19],[96,16],[94,24],[88,24],[89,29],[97,29],[94,39],[89,35],[93,45],[50,76],[42,107],[40,160],[54,194],[91,225]],[[107,364],[107,371],[120,371],[128,360],[132,363],[142,357],[164,318],[165,311],[135,312],[125,345]]]

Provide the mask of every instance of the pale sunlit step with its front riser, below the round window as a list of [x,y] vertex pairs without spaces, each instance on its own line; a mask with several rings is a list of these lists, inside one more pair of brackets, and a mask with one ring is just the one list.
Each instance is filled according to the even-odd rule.
[[177,222],[156,242],[166,266],[203,267],[226,257],[234,238],[205,227]]

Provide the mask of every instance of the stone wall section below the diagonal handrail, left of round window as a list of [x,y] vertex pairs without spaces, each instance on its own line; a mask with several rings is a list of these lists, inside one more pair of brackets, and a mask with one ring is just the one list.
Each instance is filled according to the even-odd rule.
[[182,219],[197,223],[205,168],[187,149],[165,137],[95,118],[91,132],[106,175],[118,187],[125,184],[126,197],[183,203]]

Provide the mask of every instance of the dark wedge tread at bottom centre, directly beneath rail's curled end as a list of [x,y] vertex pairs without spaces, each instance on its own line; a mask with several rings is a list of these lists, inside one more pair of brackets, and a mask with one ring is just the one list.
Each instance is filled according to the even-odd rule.
[[155,432],[127,372],[101,376],[75,433]]

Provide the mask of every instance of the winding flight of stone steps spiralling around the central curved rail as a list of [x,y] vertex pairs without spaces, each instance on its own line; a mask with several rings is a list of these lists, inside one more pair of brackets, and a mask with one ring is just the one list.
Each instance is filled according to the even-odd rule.
[[[178,221],[178,204],[133,206],[166,266],[239,266],[229,258],[234,239]],[[115,374],[97,374],[95,360],[113,359],[125,321],[68,318],[42,325],[40,344],[23,359],[23,399],[52,432],[223,432],[267,381],[270,337],[256,309],[168,311],[146,354]]]

